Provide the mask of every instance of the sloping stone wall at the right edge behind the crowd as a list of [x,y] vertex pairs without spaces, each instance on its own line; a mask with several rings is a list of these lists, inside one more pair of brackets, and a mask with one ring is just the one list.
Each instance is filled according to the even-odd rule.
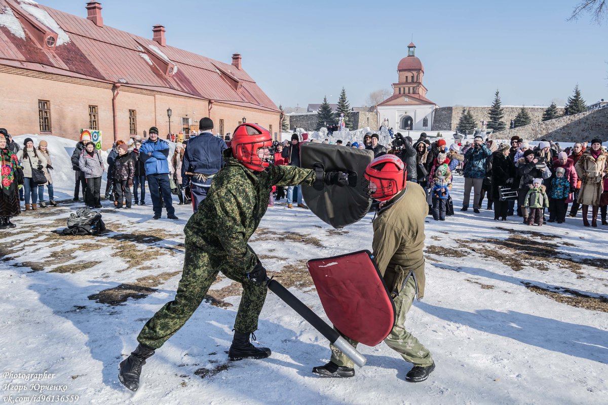
[[510,139],[515,135],[527,140],[545,138],[554,142],[590,141],[592,138],[608,141],[608,107],[515,129],[506,129],[491,134],[491,138]]

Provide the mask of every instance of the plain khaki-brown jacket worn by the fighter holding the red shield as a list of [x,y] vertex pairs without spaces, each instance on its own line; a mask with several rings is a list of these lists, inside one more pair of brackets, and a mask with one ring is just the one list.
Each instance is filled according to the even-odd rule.
[[380,209],[373,222],[372,247],[378,269],[393,296],[414,277],[416,293],[424,296],[424,219],[429,214],[424,189],[407,182],[404,194]]

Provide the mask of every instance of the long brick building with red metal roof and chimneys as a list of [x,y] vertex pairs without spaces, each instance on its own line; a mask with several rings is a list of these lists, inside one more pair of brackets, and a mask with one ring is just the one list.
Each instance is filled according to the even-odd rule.
[[147,39],[104,26],[96,1],[86,12],[0,0],[0,127],[74,140],[80,129],[98,129],[103,148],[151,126],[161,137],[169,126],[187,134],[202,117],[222,135],[243,119],[279,131],[280,111],[238,53],[221,63],[168,46],[163,26]]

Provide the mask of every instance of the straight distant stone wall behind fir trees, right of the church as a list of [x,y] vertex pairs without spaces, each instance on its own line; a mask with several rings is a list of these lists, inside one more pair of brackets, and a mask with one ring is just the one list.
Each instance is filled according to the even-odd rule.
[[[462,115],[463,109],[471,110],[477,126],[481,128],[482,120],[488,121],[488,112],[491,107],[467,107],[467,106],[452,106],[452,107],[440,107],[435,110],[435,117],[433,119],[432,131],[454,131],[458,126],[458,121]],[[504,121],[507,128],[511,120],[515,119],[515,116],[522,107],[503,107],[505,112]],[[525,107],[532,118],[532,123],[539,123],[542,120],[542,114],[545,112],[547,107]],[[564,109],[558,109],[559,114],[564,114]]]

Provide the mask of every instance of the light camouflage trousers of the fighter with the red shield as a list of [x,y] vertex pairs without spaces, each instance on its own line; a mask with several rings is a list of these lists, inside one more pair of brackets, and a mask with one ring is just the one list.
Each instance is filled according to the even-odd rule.
[[[405,361],[410,362],[415,366],[426,367],[433,363],[433,357],[430,355],[429,350],[404,328],[407,311],[412,307],[415,296],[416,285],[414,277],[410,277],[401,293],[393,300],[395,302],[396,311],[395,325],[390,331],[389,336],[384,339],[384,342],[391,349],[395,350],[395,352],[399,353]],[[347,336],[344,336],[344,338],[347,339],[353,347],[357,347],[358,342]],[[340,352],[337,347],[330,345],[330,348],[331,361],[338,366],[354,367],[353,361],[345,356],[344,353]]]

